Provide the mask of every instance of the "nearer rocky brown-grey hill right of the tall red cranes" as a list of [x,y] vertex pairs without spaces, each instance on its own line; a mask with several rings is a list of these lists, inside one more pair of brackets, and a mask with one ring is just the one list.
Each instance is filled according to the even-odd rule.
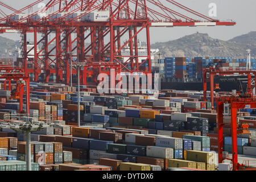
[[[246,37],[246,36],[245,36]],[[256,35],[253,36],[256,38]],[[155,43],[151,48],[158,48],[163,57],[201,57],[234,56],[244,58],[248,48],[246,40],[234,38],[237,42],[213,39],[208,34],[192,34],[168,42]],[[238,41],[239,40],[239,41]],[[243,43],[245,42],[245,43]],[[250,46],[252,56],[256,55],[256,45]]]

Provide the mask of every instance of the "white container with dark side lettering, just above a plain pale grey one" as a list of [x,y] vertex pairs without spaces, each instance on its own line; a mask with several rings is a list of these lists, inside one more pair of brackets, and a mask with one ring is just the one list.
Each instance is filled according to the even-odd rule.
[[174,137],[156,137],[155,146],[183,149],[183,139]]

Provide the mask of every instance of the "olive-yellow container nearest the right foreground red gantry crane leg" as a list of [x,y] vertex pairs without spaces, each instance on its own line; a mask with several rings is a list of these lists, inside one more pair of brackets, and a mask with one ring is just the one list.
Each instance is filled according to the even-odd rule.
[[215,158],[213,152],[187,150],[187,160],[214,164]]

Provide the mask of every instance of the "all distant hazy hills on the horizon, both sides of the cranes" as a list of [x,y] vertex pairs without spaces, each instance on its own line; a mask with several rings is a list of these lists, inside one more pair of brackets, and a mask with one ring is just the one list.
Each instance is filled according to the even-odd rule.
[[[15,45],[19,46],[19,42],[0,36],[0,57],[9,57],[9,51],[13,51]],[[251,56],[256,57],[256,31],[228,41],[211,38],[208,34],[196,33],[168,42],[155,43],[151,48],[158,48],[163,57],[234,56],[237,58],[245,58],[246,49],[250,48]]]

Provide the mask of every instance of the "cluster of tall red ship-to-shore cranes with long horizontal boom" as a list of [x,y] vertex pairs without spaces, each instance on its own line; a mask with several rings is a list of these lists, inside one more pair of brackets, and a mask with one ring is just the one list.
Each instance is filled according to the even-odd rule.
[[[42,2],[47,2],[46,7],[38,10],[37,6]],[[90,13],[100,15],[102,11],[109,11],[108,19],[83,20]],[[70,57],[79,60],[71,60],[73,65],[77,62],[118,63],[121,72],[151,73],[150,27],[235,24],[232,20],[222,22],[212,19],[173,0],[38,0],[2,18],[0,32],[18,31],[22,36],[23,69],[25,73],[34,73],[36,82],[42,74],[46,82],[51,74],[55,74],[56,82],[69,84],[71,75],[77,74],[76,69],[70,69]],[[142,56],[138,51],[138,36],[143,31],[146,32],[147,53]],[[34,34],[34,47],[27,49],[29,32]],[[42,36],[40,39],[39,34]],[[126,41],[122,43],[123,39]],[[89,42],[88,45],[86,42]],[[42,48],[38,49],[41,44]],[[52,48],[51,44],[55,46]],[[129,46],[127,55],[121,51],[125,46]],[[125,57],[128,57],[126,61]],[[34,65],[34,68],[28,68],[27,64]],[[95,69],[94,77],[97,77],[96,73],[105,71],[104,68],[100,71]],[[85,70],[82,75],[87,77]],[[85,84],[86,81],[82,79],[81,82]]]

